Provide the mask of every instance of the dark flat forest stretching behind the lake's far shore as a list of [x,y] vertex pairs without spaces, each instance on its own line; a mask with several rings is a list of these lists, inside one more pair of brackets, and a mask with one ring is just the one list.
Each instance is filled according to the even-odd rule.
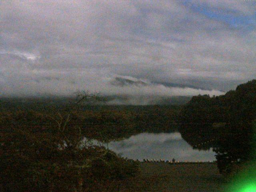
[[[48,103],[49,102],[49,103]],[[34,126],[48,129],[56,122],[50,117],[58,112],[66,114],[67,103],[50,104],[24,102],[20,106],[4,108],[0,112],[0,125]],[[84,136],[98,140],[127,138],[142,132],[175,132],[179,106],[81,106],[72,110],[67,126],[80,126]]]

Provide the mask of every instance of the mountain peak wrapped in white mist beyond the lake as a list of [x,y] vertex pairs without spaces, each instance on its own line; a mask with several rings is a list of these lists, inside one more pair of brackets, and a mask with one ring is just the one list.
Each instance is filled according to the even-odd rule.
[[116,76],[110,78],[115,94],[105,93],[107,104],[174,104],[180,105],[188,102],[193,95],[210,94],[220,95],[224,92],[218,90],[204,90],[186,85],[168,82],[150,82],[130,76]]

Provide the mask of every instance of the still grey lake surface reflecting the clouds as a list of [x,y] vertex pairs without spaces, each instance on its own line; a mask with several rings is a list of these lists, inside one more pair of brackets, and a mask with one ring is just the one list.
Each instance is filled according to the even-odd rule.
[[180,133],[141,133],[128,139],[108,143],[108,148],[129,159],[163,159],[177,161],[214,161],[212,149],[193,150]]

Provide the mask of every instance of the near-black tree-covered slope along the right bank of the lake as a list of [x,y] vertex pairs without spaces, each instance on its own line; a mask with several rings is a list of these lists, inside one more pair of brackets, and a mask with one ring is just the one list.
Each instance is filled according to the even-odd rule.
[[180,111],[179,131],[194,148],[214,148],[222,172],[233,162],[252,158],[255,120],[256,80],[252,80],[222,96],[194,96]]

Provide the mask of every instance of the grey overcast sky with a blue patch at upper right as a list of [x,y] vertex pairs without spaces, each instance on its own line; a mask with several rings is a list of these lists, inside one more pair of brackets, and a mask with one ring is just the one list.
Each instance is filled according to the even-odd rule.
[[116,76],[216,95],[256,78],[256,1],[0,1],[0,96],[204,93]]

